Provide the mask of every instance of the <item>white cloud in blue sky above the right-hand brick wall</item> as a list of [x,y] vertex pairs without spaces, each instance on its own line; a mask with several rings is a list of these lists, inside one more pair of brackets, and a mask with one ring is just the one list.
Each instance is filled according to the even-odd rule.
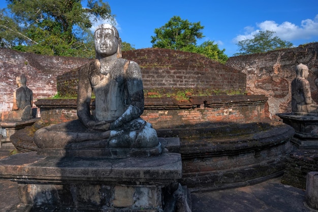
[[253,35],[266,30],[276,32],[275,36],[282,40],[310,39],[313,36],[318,36],[318,15],[314,19],[302,20],[300,26],[288,21],[278,24],[275,21],[266,20],[257,23],[257,27],[258,29],[250,26],[245,27],[244,35],[238,35],[233,39],[233,42],[237,43],[242,40],[251,39]]

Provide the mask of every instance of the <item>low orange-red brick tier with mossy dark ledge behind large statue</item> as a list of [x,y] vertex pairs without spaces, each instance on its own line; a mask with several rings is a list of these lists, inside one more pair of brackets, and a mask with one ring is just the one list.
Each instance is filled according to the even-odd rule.
[[[178,128],[213,122],[247,123],[265,118],[265,96],[190,97],[187,102],[173,98],[145,98],[142,118],[155,129]],[[58,124],[77,119],[76,99],[41,99],[41,120]]]

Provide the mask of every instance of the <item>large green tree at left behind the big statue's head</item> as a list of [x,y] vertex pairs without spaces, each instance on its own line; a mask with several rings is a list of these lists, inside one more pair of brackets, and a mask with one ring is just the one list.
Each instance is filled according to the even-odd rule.
[[114,18],[109,5],[102,0],[88,0],[86,8],[80,0],[7,2],[23,35],[12,48],[39,54],[93,57],[90,27],[94,21]]

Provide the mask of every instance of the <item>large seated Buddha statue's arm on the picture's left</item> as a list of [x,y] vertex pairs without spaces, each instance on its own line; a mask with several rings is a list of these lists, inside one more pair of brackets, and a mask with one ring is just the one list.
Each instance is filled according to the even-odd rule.
[[91,120],[90,117],[90,100],[92,88],[89,82],[89,64],[86,64],[78,70],[78,89],[77,89],[77,116],[83,125]]

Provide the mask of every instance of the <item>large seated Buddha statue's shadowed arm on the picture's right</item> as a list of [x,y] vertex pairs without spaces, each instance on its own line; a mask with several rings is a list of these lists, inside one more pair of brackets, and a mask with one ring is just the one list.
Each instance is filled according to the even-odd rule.
[[123,124],[140,117],[144,111],[144,92],[141,70],[137,63],[129,63],[130,64],[128,70],[126,70],[125,78],[130,105],[126,111],[111,124],[110,129],[116,129]]

